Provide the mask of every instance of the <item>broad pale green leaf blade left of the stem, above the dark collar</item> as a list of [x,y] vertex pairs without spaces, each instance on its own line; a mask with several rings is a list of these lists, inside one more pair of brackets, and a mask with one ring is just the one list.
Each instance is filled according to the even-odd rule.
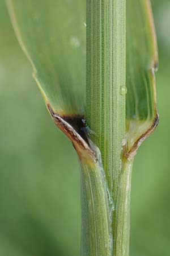
[[86,1],[7,0],[7,4],[45,101],[59,114],[84,112]]

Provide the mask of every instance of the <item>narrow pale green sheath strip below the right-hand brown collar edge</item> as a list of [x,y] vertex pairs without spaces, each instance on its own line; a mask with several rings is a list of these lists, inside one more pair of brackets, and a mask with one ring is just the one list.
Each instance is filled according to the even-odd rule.
[[129,234],[130,234],[130,191],[131,191],[131,171],[133,161],[124,159],[120,174],[120,185],[118,187],[116,205],[116,246],[114,255],[129,255]]

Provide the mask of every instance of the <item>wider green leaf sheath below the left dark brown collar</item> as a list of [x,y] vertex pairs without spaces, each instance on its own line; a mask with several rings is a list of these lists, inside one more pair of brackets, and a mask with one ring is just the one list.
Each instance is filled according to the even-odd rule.
[[112,256],[112,210],[107,181],[96,148],[97,161],[81,160],[81,256]]

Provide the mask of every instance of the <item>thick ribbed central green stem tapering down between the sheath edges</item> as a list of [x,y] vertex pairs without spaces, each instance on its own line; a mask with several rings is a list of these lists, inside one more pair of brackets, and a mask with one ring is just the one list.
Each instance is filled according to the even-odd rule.
[[[126,0],[87,0],[87,123],[100,149],[115,205],[125,135],[125,85]],[[114,211],[113,247],[117,220]]]

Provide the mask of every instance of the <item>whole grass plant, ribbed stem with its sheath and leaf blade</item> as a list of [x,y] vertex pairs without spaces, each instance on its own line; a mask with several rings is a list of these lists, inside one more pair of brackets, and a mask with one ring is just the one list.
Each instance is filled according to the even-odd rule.
[[[87,88],[87,117],[96,133],[109,193],[116,203],[113,230],[109,222],[107,181],[100,170],[99,156],[81,129],[86,95],[86,1],[7,0],[7,3],[16,35],[32,64],[33,77],[48,110],[59,129],[73,142],[81,160],[82,193],[85,193],[82,220],[88,222],[83,232],[82,255],[89,251],[91,255],[100,252],[110,255],[110,232],[115,241],[113,254],[128,255],[132,166],[129,160],[158,124],[154,76],[158,58],[150,1],[129,0],[127,12],[126,1],[109,1],[109,5],[106,0],[100,4],[89,1],[94,13],[88,18],[92,19],[94,31],[89,31],[87,42],[91,40],[94,48],[87,44],[88,61],[92,57],[92,62],[87,61],[87,72],[88,75],[92,72],[89,77],[94,80]],[[124,154],[121,154],[122,144]],[[94,198],[91,209],[87,202],[92,203]],[[95,215],[96,209],[99,215]]]

